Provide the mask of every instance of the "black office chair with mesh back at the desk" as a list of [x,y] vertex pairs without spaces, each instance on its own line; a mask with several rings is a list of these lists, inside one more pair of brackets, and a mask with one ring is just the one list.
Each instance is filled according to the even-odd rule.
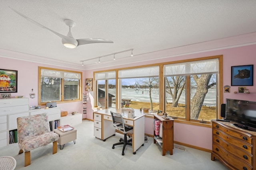
[[[132,146],[132,143],[130,143],[130,141],[132,141],[132,139],[129,139],[127,141],[126,133],[132,131],[133,127],[124,124],[123,116],[120,113],[114,113],[112,111],[110,111],[110,113],[111,113],[111,116],[112,116],[114,127],[116,127],[118,130],[120,130],[124,133],[124,139],[120,138],[118,143],[113,144],[112,149],[115,149],[116,145],[124,145],[123,146],[123,151],[122,151],[122,155],[124,155],[124,149],[125,149],[126,145],[131,145]],[[129,134],[128,134],[128,136],[129,136]]]

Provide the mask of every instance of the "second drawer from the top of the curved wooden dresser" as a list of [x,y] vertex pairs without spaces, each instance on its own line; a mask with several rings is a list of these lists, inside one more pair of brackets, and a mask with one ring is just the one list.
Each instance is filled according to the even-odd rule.
[[213,132],[213,135],[216,135],[216,136],[222,138],[227,143],[237,146],[238,148],[246,150],[247,152],[252,154],[252,145],[250,145],[244,141],[241,141],[239,139],[236,139],[234,137],[228,136],[225,133],[223,133],[222,131],[219,131],[218,129],[213,129],[212,132]]

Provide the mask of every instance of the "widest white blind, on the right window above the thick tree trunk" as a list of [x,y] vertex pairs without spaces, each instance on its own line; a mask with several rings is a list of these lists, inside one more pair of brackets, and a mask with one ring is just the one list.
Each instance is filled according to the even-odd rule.
[[164,65],[164,76],[218,73],[218,59]]

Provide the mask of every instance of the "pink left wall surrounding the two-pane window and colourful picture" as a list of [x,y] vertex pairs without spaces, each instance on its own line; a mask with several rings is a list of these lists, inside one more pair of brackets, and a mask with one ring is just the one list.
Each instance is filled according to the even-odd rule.
[[[60,66],[41,64],[41,63],[32,63],[28,61],[20,61],[15,59],[8,59],[0,57],[1,67],[0,69],[9,69],[9,70],[18,70],[18,92],[11,93],[12,97],[14,96],[25,96],[29,98],[29,94],[36,94],[36,98],[29,98],[29,105],[36,106],[38,105],[38,66],[49,67],[49,68],[59,68],[63,70],[72,70],[83,72],[82,84],[83,89],[85,89],[85,77],[83,70],[76,70],[73,68],[64,68]],[[57,104],[61,108],[61,111],[68,111],[72,113],[73,111],[78,111],[82,113],[82,102],[70,102],[65,104]]]

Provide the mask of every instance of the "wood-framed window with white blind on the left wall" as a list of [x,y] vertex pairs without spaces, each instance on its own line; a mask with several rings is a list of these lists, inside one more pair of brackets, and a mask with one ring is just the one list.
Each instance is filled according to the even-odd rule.
[[40,104],[81,100],[81,72],[44,67],[38,67],[38,72]]

